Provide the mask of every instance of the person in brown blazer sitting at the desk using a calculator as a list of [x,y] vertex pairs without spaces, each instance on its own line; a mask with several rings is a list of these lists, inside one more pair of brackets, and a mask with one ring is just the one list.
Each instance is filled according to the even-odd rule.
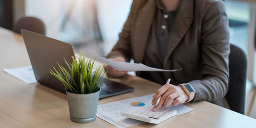
[[[164,84],[153,96],[153,111],[172,101],[206,100],[228,107],[229,27],[225,6],[216,0],[139,0],[119,34],[108,58],[144,63],[178,72],[136,72],[138,76]],[[109,75],[122,77],[126,71],[111,67]],[[187,88],[195,92],[187,93]],[[183,86],[183,87],[182,87]]]

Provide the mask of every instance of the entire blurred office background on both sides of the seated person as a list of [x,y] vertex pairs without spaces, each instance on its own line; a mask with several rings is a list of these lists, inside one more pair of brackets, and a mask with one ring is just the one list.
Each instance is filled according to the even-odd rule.
[[[250,29],[255,29],[250,28],[250,22],[255,21],[251,15],[252,7],[256,7],[252,4],[256,2],[226,0],[224,3],[230,43],[248,53],[248,41],[255,36],[250,35]],[[105,56],[117,42],[131,4],[132,0],[0,0],[0,27],[12,30],[19,18],[33,16],[45,24],[46,36],[69,42],[75,52],[93,50]],[[245,112],[256,118],[256,104],[253,104],[256,89],[253,87],[253,81],[247,80]]]

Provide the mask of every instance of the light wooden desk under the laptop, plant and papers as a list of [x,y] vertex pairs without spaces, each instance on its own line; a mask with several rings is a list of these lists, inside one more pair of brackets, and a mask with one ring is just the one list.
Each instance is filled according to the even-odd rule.
[[[65,94],[42,86],[27,84],[3,71],[30,65],[22,36],[0,28],[0,127],[114,127],[97,118],[92,123],[75,123],[70,120]],[[155,93],[161,87],[148,80],[126,75],[114,79],[135,88],[133,92],[105,99],[99,104]],[[134,127],[255,127],[256,120],[200,101],[186,103],[194,110],[175,116],[160,124],[144,123]]]

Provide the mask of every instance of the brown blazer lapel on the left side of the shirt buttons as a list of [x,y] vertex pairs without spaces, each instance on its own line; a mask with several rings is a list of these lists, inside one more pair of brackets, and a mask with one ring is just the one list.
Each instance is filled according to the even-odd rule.
[[137,19],[134,28],[134,60],[136,63],[141,63],[143,61],[146,41],[148,34],[150,33],[151,25],[153,22],[153,17],[155,14],[155,1],[148,1],[143,8],[138,12]]

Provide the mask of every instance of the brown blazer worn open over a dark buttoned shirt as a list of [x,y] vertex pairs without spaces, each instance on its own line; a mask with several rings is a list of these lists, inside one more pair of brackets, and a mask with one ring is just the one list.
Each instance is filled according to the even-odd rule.
[[[109,58],[122,56],[142,63],[148,33],[156,9],[155,0],[134,0],[131,12]],[[181,0],[164,57],[164,72],[172,84],[189,82],[196,90],[194,101],[224,106],[228,91],[229,27],[225,6],[216,0]],[[136,73],[139,75],[139,72]]]

